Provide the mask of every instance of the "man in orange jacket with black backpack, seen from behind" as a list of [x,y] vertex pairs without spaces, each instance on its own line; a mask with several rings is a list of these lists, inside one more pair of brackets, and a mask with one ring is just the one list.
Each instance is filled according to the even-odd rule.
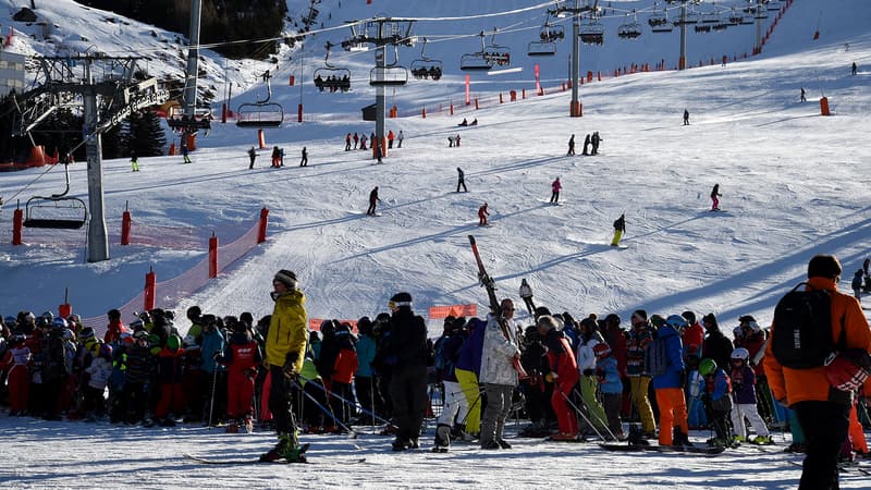
[[810,259],[805,291],[787,293],[774,310],[763,358],[774,397],[795,411],[805,432],[800,490],[838,488],[852,393],[868,376],[868,366],[847,359],[868,362],[871,330],[859,302],[837,291],[841,272],[833,255]]

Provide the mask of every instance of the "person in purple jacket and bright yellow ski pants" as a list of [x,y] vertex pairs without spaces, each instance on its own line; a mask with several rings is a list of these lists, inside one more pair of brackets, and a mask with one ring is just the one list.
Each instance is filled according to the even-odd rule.
[[466,416],[466,433],[473,436],[481,432],[481,391],[478,385],[478,376],[481,372],[486,326],[487,323],[479,318],[473,318],[466,323],[468,338],[459,350],[454,365],[454,376],[469,406]]

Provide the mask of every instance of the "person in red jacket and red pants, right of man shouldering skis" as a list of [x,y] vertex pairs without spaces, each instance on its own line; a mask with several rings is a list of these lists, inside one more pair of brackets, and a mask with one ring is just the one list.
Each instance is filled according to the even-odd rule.
[[575,354],[572,352],[572,346],[568,345],[568,340],[560,330],[560,322],[556,318],[542,315],[536,324],[548,350],[549,372],[544,375],[544,379],[553,383],[551,406],[560,426],[560,433],[554,434],[552,439],[554,441],[574,441],[578,437],[578,419],[568,407],[567,402],[580,377]]

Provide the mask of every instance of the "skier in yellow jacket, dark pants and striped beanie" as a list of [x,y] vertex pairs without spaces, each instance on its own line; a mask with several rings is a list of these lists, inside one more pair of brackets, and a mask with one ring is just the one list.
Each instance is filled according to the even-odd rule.
[[296,274],[282,269],[272,279],[272,299],[275,308],[266,338],[266,364],[272,377],[269,409],[275,424],[279,442],[260,461],[286,460],[305,463],[308,444],[299,445],[293,397],[299,389],[297,378],[305,360],[308,331],[306,330],[306,295],[297,287]]

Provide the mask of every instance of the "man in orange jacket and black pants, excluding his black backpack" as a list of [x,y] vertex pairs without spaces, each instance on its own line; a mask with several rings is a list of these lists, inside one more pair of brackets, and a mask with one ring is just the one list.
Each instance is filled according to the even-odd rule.
[[[837,291],[841,262],[833,255],[817,255],[808,262],[808,289],[831,293],[832,339],[842,334],[846,348],[871,350],[871,329],[859,302]],[[772,322],[772,336],[777,326]],[[774,357],[774,342],[769,342],[763,357],[769,385],[775,400],[796,412],[805,432],[807,456],[799,489],[838,488],[837,460],[847,439],[852,393],[836,389],[829,381],[824,366],[793,369]]]

